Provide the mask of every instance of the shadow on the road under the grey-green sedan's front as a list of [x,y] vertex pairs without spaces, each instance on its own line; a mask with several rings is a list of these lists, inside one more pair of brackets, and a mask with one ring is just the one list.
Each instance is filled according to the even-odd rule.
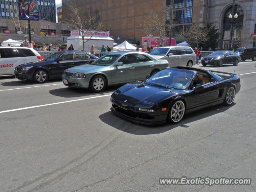
[[58,96],[58,97],[64,97],[64,98],[74,98],[74,97],[83,97],[83,96],[90,96],[90,95],[104,95],[109,92],[114,92],[117,90],[120,86],[110,86],[106,88],[104,92],[95,93],[90,91],[89,89],[84,88],[71,88],[71,87],[65,87],[65,88],[59,88],[59,89],[53,89],[50,90],[49,93]]

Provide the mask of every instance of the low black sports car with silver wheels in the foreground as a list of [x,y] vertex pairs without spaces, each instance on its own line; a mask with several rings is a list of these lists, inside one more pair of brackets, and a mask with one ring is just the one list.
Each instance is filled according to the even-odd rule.
[[165,68],[146,81],[128,83],[110,101],[114,114],[142,124],[178,123],[185,113],[233,103],[240,90],[236,74],[189,67]]

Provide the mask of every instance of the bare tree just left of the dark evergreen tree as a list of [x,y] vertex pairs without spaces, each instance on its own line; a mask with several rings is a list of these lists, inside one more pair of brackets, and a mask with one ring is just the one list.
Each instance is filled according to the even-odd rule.
[[208,40],[207,31],[198,23],[192,23],[188,28],[185,28],[182,33],[182,38],[188,42],[190,46],[196,47]]

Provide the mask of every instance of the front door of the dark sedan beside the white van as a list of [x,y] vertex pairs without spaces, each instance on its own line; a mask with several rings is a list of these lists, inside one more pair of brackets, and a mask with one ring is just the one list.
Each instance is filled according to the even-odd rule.
[[56,59],[56,61],[57,60],[60,60],[60,61],[57,62],[57,67],[52,68],[52,74],[56,78],[61,77],[61,75],[62,75],[62,73],[64,72],[65,69],[73,67],[74,64],[75,64],[74,53],[73,52],[67,52],[67,53],[63,54],[62,56],[58,57]]

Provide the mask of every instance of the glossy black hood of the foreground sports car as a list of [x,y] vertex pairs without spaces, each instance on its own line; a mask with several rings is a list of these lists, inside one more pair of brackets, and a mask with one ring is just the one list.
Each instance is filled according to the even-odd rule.
[[129,83],[120,87],[112,94],[112,98],[119,102],[127,104],[138,105],[146,103],[147,106],[176,95],[177,92],[184,92],[183,90],[173,90],[159,86],[153,86],[147,83]]

